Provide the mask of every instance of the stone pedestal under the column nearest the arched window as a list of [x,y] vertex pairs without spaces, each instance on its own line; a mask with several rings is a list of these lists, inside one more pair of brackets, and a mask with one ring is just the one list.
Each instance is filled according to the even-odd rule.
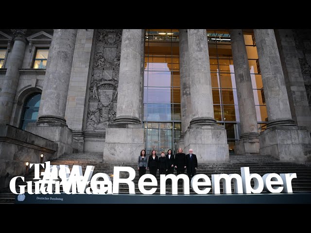
[[61,121],[37,121],[28,123],[26,131],[56,142],[58,145],[57,158],[63,154],[72,153],[73,136],[66,123],[64,124]]

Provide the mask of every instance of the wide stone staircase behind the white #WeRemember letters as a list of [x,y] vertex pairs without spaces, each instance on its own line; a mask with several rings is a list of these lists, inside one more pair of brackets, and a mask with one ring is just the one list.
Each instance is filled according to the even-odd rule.
[[[138,169],[137,163],[130,162],[103,162],[103,154],[100,153],[84,153],[84,154],[66,154],[57,160],[51,161],[51,165],[68,165],[71,169],[73,165],[81,165],[83,172],[86,166],[95,166],[93,175],[98,172],[106,173],[111,177],[113,181],[113,167],[114,166],[130,166],[136,171],[135,192],[140,194],[138,189]],[[242,156],[242,155],[230,155],[230,163],[206,163],[200,164],[197,169],[197,174],[206,174],[210,179],[212,174],[241,174],[241,167],[248,166],[250,173],[258,173],[263,176],[266,173],[296,173],[297,179],[293,179],[293,192],[311,192],[311,163],[282,163],[269,156]],[[44,169],[41,169],[43,171]],[[147,174],[149,171],[147,170]],[[176,175],[176,171],[174,171]],[[185,173],[186,174],[186,173]],[[126,178],[127,172],[121,172],[121,178]],[[25,177],[26,181],[33,181],[34,173],[28,174]],[[159,194],[159,175],[157,172],[158,187],[155,194]],[[252,181],[253,182],[253,181]],[[17,191],[19,191],[18,185],[26,184],[23,182],[17,182]],[[148,187],[147,187],[148,188]],[[150,187],[151,188],[151,187]],[[178,185],[178,194],[182,194],[182,185]],[[233,192],[232,182],[232,192]],[[167,192],[171,193],[171,185],[167,185]],[[120,184],[120,192],[128,194],[128,185]],[[212,190],[209,194],[212,193]],[[221,182],[221,193],[223,193]],[[190,187],[190,194],[195,194]],[[9,188],[0,189],[0,203],[14,203],[15,195]]]

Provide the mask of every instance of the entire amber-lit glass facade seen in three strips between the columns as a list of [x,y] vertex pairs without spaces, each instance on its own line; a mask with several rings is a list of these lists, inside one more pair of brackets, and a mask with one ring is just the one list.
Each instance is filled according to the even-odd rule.
[[[181,130],[178,30],[145,32],[143,121],[146,152],[174,150]],[[253,33],[244,33],[259,132],[265,129],[267,110]],[[230,34],[207,30],[214,117],[224,125],[230,154],[241,134]],[[173,152],[175,153],[175,151]]]

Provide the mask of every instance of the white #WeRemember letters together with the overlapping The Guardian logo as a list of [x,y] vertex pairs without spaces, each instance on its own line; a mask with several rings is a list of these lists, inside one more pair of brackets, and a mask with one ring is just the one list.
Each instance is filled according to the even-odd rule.
[[[45,171],[41,172],[40,166]],[[114,166],[113,183],[110,177],[105,173],[96,173],[93,177],[94,166],[86,166],[86,171],[83,175],[82,166],[73,165],[71,172],[68,165],[50,165],[50,162],[45,164],[30,164],[30,167],[35,166],[35,191],[33,190],[33,182],[26,182],[27,185],[18,185],[19,193],[16,190],[16,181],[20,178],[25,180],[23,176],[16,176],[10,181],[10,190],[14,194],[24,194],[27,186],[28,194],[61,194],[60,186],[66,194],[119,194],[121,183],[125,183],[129,187],[129,194],[135,194],[135,179],[136,172],[132,167]],[[127,172],[127,178],[121,178],[121,172]],[[172,194],[178,194],[178,180],[183,181],[183,193],[190,194],[189,184],[192,190],[197,194],[208,194],[212,188],[213,194],[220,194],[220,181],[223,181],[223,189],[225,194],[231,194],[231,181],[234,183],[234,193],[236,194],[251,194],[261,193],[263,190],[270,193],[293,193],[292,180],[297,178],[296,173],[267,173],[262,177],[257,173],[250,174],[249,167],[241,167],[241,175],[239,174],[213,174],[212,180],[205,174],[197,174],[192,177],[191,183],[185,174],[169,174],[160,175],[160,194],[166,194],[166,180],[172,180]],[[151,179],[151,182],[146,182],[146,179]],[[202,179],[201,181],[199,181]],[[254,187],[251,185],[251,180],[254,181]],[[90,184],[90,186],[89,186]],[[138,189],[142,194],[154,194],[157,189],[157,180],[151,174],[145,174],[138,180]],[[151,189],[145,189],[145,186],[154,186]],[[200,188],[200,186],[204,186]]]

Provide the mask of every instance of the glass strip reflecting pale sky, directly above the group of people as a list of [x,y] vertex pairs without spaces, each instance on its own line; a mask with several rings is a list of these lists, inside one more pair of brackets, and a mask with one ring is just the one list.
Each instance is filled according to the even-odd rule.
[[178,30],[145,32],[143,106],[146,153],[173,150],[181,128]]

